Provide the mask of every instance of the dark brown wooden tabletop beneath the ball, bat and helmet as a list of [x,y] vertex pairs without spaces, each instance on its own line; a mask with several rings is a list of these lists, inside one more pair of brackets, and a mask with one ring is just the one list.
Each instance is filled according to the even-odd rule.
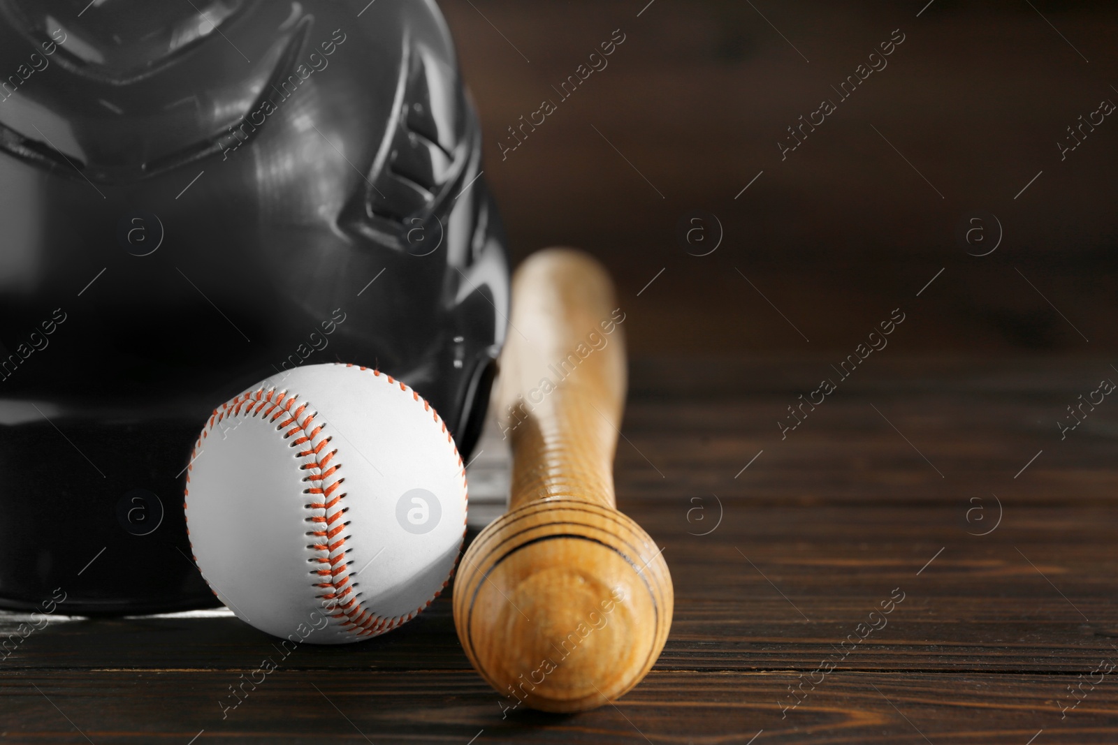
[[[1055,426],[1118,372],[883,352],[840,380],[831,362],[632,365],[618,504],[664,546],[675,618],[613,705],[502,718],[445,596],[387,636],[299,648],[225,718],[274,639],[221,612],[59,618],[0,663],[0,743],[1118,741],[1118,403]],[[822,378],[837,390],[781,439]]]

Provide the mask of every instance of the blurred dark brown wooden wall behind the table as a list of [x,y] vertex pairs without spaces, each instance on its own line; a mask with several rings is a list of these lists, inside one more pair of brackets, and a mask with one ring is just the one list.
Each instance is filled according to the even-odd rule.
[[[514,259],[555,243],[600,257],[637,355],[845,354],[897,307],[907,354],[1116,341],[1118,121],[1096,114],[1118,102],[1114,3],[439,4]],[[617,29],[608,66],[563,98]],[[781,155],[823,99],[836,111]],[[556,111],[502,157],[543,101]],[[1080,116],[1103,121],[1061,154]],[[723,240],[689,255],[713,247],[709,216]]]

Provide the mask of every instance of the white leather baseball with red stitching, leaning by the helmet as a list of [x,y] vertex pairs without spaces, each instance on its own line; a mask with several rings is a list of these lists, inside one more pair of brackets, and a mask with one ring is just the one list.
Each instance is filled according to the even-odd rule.
[[409,621],[446,586],[466,475],[410,388],[367,367],[307,365],[214,412],[184,508],[198,569],[241,620],[345,643]]

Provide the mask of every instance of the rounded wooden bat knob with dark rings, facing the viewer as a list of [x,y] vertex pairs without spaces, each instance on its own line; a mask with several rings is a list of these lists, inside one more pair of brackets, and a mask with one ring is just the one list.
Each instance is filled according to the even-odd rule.
[[633,688],[660,657],[673,610],[660,550],[625,515],[549,497],[477,536],[454,592],[458,638],[508,699],[581,711]]

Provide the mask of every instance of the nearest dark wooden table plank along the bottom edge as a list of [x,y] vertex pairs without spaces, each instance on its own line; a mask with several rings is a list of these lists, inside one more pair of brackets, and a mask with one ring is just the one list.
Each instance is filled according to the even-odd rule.
[[[1116,656],[1111,655],[1111,662]],[[1093,666],[1092,666],[1093,667]],[[1096,680],[1099,679],[1096,675]],[[793,672],[653,671],[615,706],[513,710],[459,671],[276,670],[236,709],[229,671],[0,675],[9,742],[199,743],[1112,743],[1114,674],[1069,706],[1074,676],[834,671],[802,704]],[[36,689],[38,687],[38,690]],[[222,697],[222,694],[225,697]],[[48,700],[49,699],[49,700]],[[505,704],[508,706],[508,704]],[[56,708],[57,707],[57,708]],[[222,713],[226,718],[222,719]],[[72,724],[73,723],[73,726]],[[758,733],[764,733],[758,736]],[[472,737],[476,741],[471,741]]]

